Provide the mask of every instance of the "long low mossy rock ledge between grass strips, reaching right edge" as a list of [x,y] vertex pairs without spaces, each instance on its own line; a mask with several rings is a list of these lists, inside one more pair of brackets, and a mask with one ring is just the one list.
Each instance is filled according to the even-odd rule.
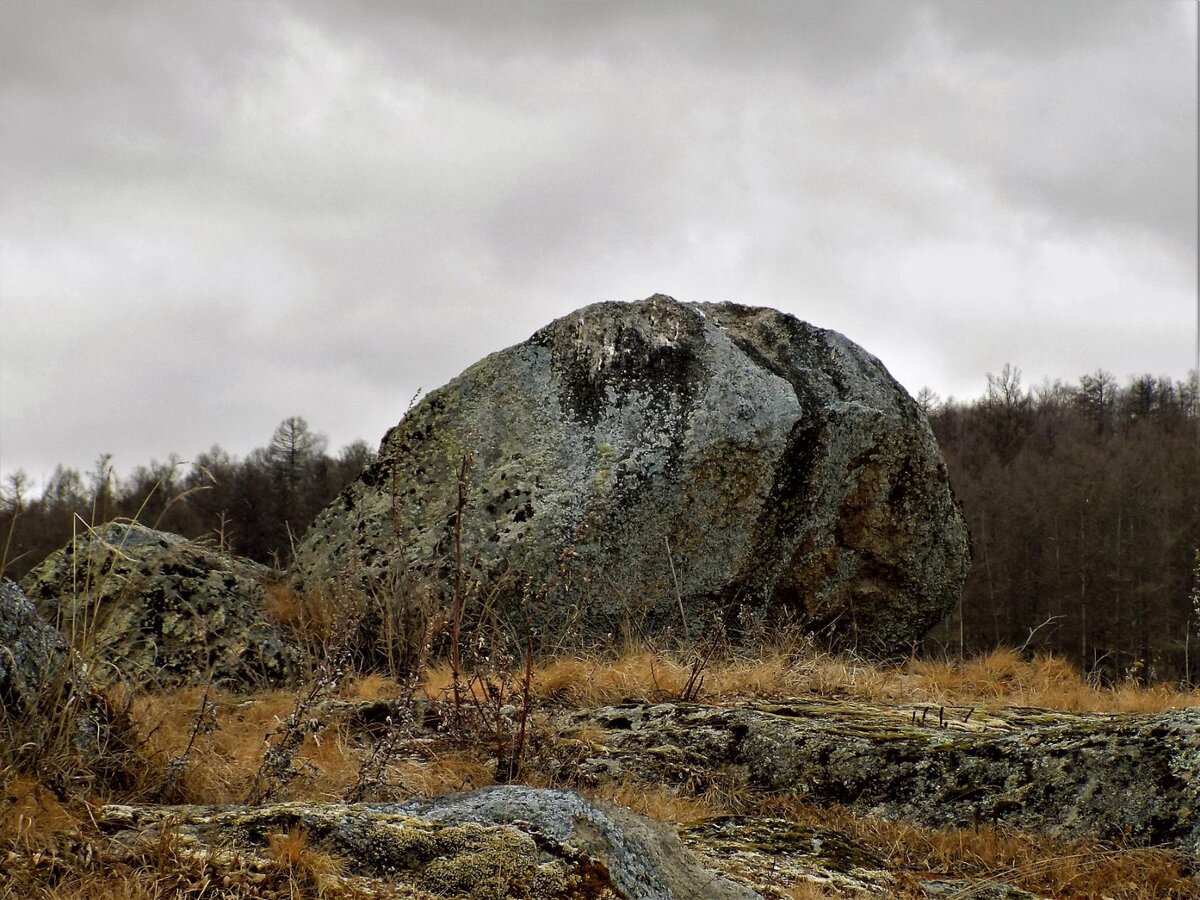
[[763,791],[930,827],[1006,823],[1200,854],[1200,708],[1084,715],[797,701],[620,704],[569,714],[602,731],[596,779]]

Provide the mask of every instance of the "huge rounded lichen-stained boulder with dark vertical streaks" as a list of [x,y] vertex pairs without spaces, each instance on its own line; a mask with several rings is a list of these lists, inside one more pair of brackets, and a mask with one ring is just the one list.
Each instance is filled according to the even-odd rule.
[[462,576],[522,643],[527,623],[542,646],[794,623],[896,654],[967,564],[929,424],[877,359],[774,310],[655,295],[426,396],[295,574],[440,608]]

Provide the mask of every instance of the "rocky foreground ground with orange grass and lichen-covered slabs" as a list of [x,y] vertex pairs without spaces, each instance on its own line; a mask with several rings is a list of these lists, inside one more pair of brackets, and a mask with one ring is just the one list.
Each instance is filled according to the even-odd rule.
[[0,892],[1200,895],[1196,708],[896,703],[828,676],[739,697],[713,660],[682,701],[695,670],[668,656],[648,677],[569,662],[533,672],[528,702],[476,677],[457,710],[445,672],[415,696],[379,677],[139,695],[138,778],[80,800],[8,772]]

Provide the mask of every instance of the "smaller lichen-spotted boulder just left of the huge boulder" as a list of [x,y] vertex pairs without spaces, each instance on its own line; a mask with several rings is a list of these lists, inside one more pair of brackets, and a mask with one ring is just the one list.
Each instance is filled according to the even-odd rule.
[[263,616],[265,568],[136,523],[91,528],[23,580],[95,677],[162,688],[287,682],[299,652]]

